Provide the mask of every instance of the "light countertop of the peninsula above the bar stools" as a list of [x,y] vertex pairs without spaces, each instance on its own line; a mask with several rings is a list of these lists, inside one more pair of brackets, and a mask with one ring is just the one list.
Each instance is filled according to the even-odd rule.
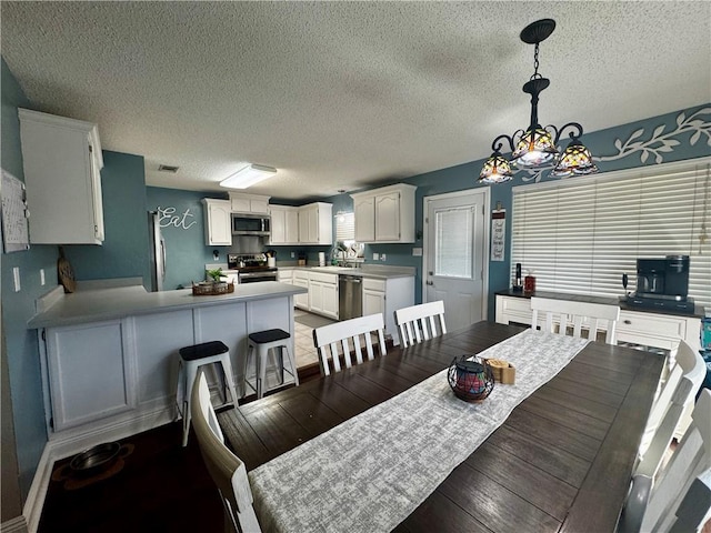
[[[59,289],[61,290],[61,286]],[[28,321],[28,328],[83,324],[180,309],[289,296],[303,292],[307,292],[303,288],[276,281],[234,285],[232,293],[209,296],[194,296],[192,289],[147,292],[142,285],[86,290],[54,298],[54,303]]]

